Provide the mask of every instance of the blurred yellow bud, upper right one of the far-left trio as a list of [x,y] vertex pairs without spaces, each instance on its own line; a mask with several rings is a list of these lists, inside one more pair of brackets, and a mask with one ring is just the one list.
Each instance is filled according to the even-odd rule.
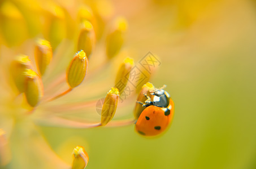
[[53,51],[50,42],[44,39],[38,39],[34,50],[34,59],[36,60],[37,69],[41,76],[45,74],[45,70],[52,58]]

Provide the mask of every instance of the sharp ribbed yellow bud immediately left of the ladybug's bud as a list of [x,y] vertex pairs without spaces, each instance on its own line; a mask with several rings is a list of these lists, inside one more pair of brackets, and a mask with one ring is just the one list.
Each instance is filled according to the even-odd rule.
[[101,111],[101,125],[105,126],[114,117],[116,107],[118,106],[119,91],[118,88],[112,87],[107,93]]

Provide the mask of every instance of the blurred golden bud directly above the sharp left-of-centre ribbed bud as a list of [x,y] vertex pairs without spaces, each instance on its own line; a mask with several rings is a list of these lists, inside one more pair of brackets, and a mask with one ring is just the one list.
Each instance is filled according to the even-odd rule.
[[95,34],[93,26],[89,21],[84,21],[81,24],[81,30],[79,34],[77,51],[83,50],[86,55],[90,56],[95,45]]

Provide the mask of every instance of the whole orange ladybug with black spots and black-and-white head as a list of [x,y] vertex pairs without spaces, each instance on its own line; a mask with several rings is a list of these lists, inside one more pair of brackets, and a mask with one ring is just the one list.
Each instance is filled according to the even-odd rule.
[[174,103],[170,94],[163,90],[164,87],[166,86],[154,88],[153,91],[150,91],[150,94],[153,95],[151,98],[144,94],[147,98],[145,103],[136,101],[146,107],[135,124],[135,130],[139,134],[144,136],[159,135],[171,123],[174,113]]

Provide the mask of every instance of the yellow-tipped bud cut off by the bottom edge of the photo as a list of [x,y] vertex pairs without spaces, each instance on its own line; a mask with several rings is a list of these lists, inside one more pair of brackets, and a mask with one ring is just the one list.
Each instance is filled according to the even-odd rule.
[[89,156],[85,152],[84,147],[77,145],[73,150],[72,169],[83,169],[87,166]]

